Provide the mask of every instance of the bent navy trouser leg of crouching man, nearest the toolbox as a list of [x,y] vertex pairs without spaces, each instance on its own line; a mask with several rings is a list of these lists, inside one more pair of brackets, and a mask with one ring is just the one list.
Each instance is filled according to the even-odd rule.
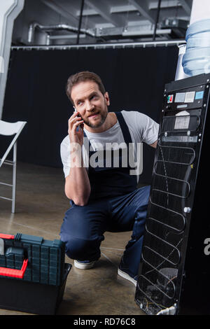
[[66,211],[60,237],[69,258],[90,261],[100,258],[108,216],[106,209],[104,202],[91,202],[83,207],[73,204]]

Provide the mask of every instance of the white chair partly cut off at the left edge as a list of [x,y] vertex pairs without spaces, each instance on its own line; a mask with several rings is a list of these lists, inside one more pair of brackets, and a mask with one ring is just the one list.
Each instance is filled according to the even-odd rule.
[[[13,166],[13,183],[7,184],[0,182],[1,185],[10,186],[13,188],[12,199],[8,197],[1,197],[1,199],[12,201],[12,213],[15,213],[15,194],[16,194],[16,162],[17,162],[17,139],[22,132],[23,127],[25,126],[26,121],[18,121],[17,123],[7,123],[6,121],[0,120],[0,135],[3,136],[14,136],[13,140],[10,142],[6,152],[3,154],[3,157],[0,159],[0,168],[4,165],[12,165]],[[13,148],[13,161],[6,160],[8,153]]]

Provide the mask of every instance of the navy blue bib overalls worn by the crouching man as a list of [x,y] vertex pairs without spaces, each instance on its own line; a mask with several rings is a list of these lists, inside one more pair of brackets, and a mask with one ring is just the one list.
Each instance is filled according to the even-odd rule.
[[[132,143],[130,132],[122,113],[116,112],[116,116],[128,152],[129,143]],[[150,186],[137,189],[137,176],[130,175],[130,169],[133,168],[129,165],[123,167],[123,151],[119,152],[118,167],[113,165],[116,153],[113,150],[111,152],[110,167],[89,167],[89,201],[80,207],[71,200],[71,208],[66,211],[60,237],[66,244],[66,255],[69,258],[91,262],[100,258],[104,232],[133,231],[120,264],[134,277],[138,274],[141,258]],[[104,151],[104,164],[106,154]],[[89,151],[90,158],[92,155],[94,151]]]

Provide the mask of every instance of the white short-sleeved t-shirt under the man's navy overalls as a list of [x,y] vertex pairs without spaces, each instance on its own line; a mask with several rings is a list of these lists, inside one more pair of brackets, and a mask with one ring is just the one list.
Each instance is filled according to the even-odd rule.
[[[134,143],[134,154],[137,156],[137,144],[146,143],[153,144],[158,139],[159,125],[153,119],[138,111],[121,111],[123,118],[129,128],[132,143]],[[107,143],[121,144],[125,142],[120,124],[117,122],[113,127],[105,132],[88,132],[85,134],[90,141],[92,151],[97,151],[99,146],[106,146]],[[105,149],[105,148],[104,148]],[[68,176],[70,172],[70,140],[67,135],[60,146],[61,159],[63,164],[64,176]],[[83,153],[84,155],[84,153]],[[84,155],[85,157],[85,155]]]

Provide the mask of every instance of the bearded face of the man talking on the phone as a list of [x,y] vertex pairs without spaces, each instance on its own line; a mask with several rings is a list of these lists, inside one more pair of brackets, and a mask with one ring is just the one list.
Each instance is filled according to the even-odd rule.
[[71,99],[85,125],[91,128],[103,125],[108,114],[109,94],[102,94],[97,83],[87,80],[74,85]]

